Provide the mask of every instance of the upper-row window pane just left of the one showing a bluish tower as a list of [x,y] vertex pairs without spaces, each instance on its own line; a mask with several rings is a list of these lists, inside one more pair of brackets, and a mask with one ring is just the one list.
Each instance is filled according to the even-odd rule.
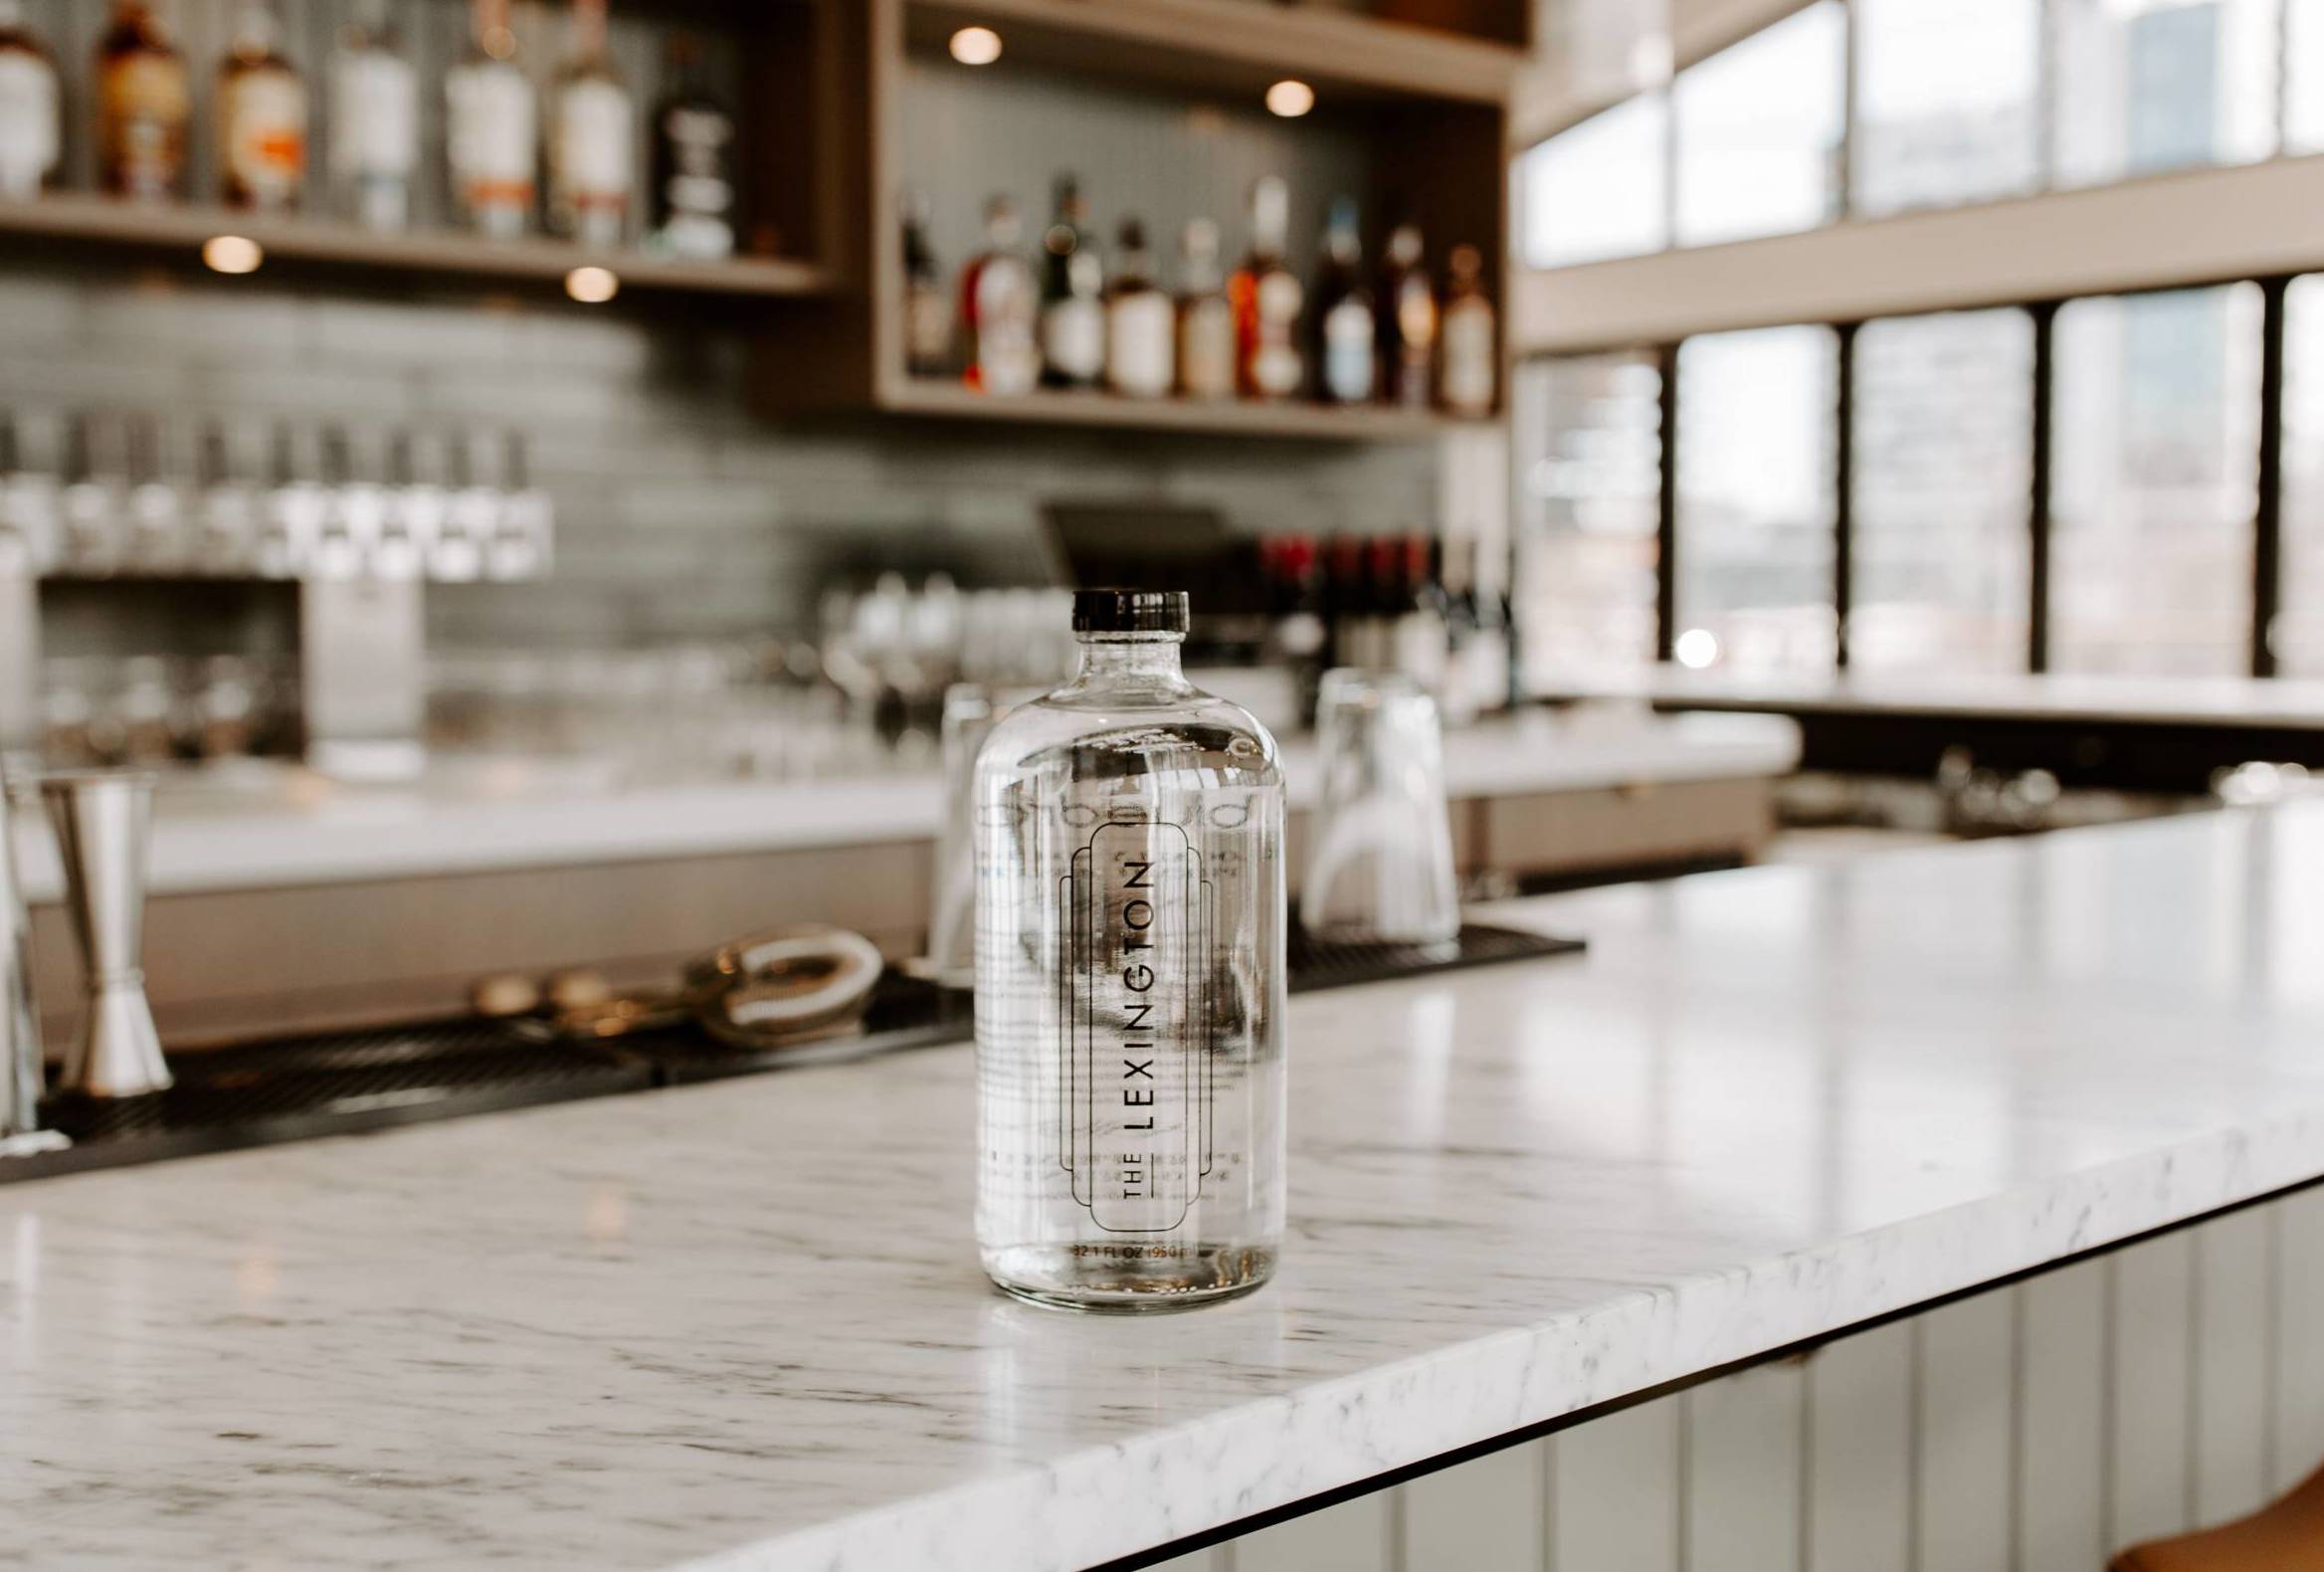
[[2038,184],[2040,0],[1855,0],[1859,214]]

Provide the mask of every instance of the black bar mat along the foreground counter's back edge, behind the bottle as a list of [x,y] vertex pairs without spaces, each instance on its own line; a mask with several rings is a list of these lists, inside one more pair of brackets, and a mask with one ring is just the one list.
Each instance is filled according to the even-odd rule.
[[[1287,949],[1290,991],[1315,993],[1564,956],[1583,944],[1483,923],[1446,946],[1318,944],[1294,923]],[[177,1086],[153,1098],[53,1105],[49,1123],[72,1146],[0,1158],[0,1184],[902,1053],[967,1042],[974,1030],[964,991],[888,972],[858,1026],[786,1049],[734,1049],[690,1026],[567,1042],[507,1021],[244,1042],[170,1056]]]

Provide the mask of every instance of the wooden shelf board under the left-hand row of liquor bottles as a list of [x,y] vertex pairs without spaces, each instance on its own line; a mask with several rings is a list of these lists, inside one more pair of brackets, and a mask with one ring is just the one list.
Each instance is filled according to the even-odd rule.
[[244,235],[277,263],[395,272],[435,279],[516,279],[562,286],[581,265],[609,267],[625,291],[695,295],[830,295],[832,277],[811,263],[737,256],[720,263],[604,251],[565,240],[479,240],[446,233],[383,235],[323,219],[270,219],[223,207],[142,207],[88,193],[0,202],[0,237],[144,251],[200,265],[202,242]]

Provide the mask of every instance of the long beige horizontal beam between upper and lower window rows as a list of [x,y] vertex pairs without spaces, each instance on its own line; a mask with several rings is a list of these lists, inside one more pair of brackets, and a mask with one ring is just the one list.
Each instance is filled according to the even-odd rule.
[[2324,153],[1511,274],[1515,356],[2324,267]]

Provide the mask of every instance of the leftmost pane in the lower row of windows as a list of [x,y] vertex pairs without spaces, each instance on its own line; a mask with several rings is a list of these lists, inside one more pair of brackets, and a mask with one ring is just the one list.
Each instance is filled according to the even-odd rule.
[[1641,672],[1655,660],[1662,374],[1648,356],[1538,360],[1518,372],[1515,616],[1527,681]]

